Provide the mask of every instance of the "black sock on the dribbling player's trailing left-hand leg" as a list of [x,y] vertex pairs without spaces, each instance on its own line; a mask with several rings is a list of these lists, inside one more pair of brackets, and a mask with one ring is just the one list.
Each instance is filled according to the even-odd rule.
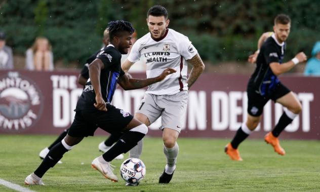
[[61,142],[57,143],[50,149],[44,161],[42,161],[39,167],[34,171],[34,174],[38,177],[44,176],[51,167],[54,167],[58,161],[61,160],[63,154],[67,151],[68,149],[66,149]]

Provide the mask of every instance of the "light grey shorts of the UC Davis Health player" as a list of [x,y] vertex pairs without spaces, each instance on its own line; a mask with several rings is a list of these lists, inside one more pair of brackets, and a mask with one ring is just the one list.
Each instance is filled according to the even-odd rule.
[[162,116],[162,126],[180,133],[188,103],[188,92],[180,91],[174,95],[144,94],[136,113],[142,113],[150,124]]

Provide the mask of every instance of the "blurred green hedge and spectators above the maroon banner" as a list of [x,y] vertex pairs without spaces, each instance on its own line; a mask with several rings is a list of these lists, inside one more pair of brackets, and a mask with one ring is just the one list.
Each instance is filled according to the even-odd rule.
[[206,71],[219,73],[252,73],[255,65],[247,59],[260,35],[272,31],[277,14],[288,14],[285,60],[300,51],[308,56],[291,73],[320,75],[320,1],[313,0],[5,0],[0,3],[0,69],[82,68],[102,47],[109,21],[132,22],[139,39],[148,32],[145,13],[156,4],[168,9],[169,27],[192,41]]

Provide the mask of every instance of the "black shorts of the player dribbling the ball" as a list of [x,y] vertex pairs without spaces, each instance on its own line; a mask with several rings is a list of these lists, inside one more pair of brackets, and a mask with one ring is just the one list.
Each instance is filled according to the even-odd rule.
[[75,111],[73,123],[68,131],[71,137],[93,136],[99,127],[108,133],[122,132],[133,119],[133,116],[122,110],[107,104],[107,111],[98,109],[83,109]]

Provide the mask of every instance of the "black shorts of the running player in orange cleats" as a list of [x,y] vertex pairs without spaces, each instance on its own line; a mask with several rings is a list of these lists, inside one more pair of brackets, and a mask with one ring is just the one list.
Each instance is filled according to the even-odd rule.
[[259,117],[263,112],[264,105],[269,101],[269,99],[275,102],[278,98],[281,98],[290,92],[291,91],[286,86],[279,82],[271,93],[262,96],[260,93],[258,93],[257,89],[249,85],[247,87],[247,111],[251,116]]

